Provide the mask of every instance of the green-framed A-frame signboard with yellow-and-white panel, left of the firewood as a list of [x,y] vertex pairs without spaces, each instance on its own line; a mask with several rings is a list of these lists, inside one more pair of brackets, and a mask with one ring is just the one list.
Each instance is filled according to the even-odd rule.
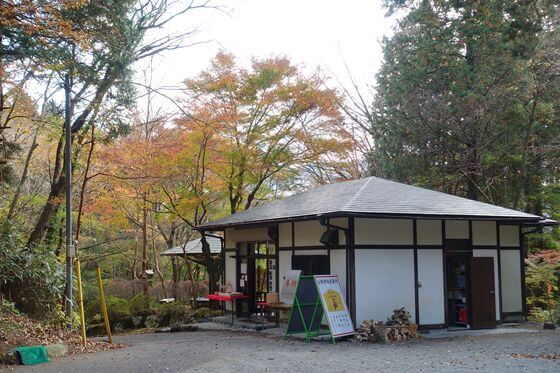
[[[326,316],[329,329],[321,329]],[[329,334],[336,338],[354,335],[352,319],[335,275],[300,276],[290,312],[286,336],[305,334],[306,341]]]

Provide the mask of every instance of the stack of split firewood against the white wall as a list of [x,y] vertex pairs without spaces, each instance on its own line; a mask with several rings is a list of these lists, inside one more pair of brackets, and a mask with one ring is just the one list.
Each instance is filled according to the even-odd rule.
[[410,313],[403,307],[393,311],[387,321],[365,320],[360,324],[358,339],[375,343],[406,341],[418,338],[417,325],[410,320]]

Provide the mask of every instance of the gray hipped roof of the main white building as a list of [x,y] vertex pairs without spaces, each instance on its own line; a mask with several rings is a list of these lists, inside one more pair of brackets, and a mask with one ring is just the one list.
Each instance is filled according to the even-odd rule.
[[307,192],[255,206],[207,223],[200,228],[223,228],[237,224],[336,213],[372,216],[497,218],[524,221],[540,219],[539,216],[521,211],[378,177],[368,177],[322,185]]

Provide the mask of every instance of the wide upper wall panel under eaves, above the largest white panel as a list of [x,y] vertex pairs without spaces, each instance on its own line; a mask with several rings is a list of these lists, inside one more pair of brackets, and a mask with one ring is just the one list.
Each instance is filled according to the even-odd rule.
[[354,221],[356,245],[412,245],[412,219],[367,219]]

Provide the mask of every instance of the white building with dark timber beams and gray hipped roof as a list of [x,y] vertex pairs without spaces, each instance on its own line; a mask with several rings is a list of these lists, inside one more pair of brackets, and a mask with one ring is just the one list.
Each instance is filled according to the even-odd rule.
[[199,229],[223,231],[225,283],[255,301],[301,269],[338,275],[355,323],[406,307],[422,328],[491,328],[525,315],[522,228],[541,220],[370,177]]

